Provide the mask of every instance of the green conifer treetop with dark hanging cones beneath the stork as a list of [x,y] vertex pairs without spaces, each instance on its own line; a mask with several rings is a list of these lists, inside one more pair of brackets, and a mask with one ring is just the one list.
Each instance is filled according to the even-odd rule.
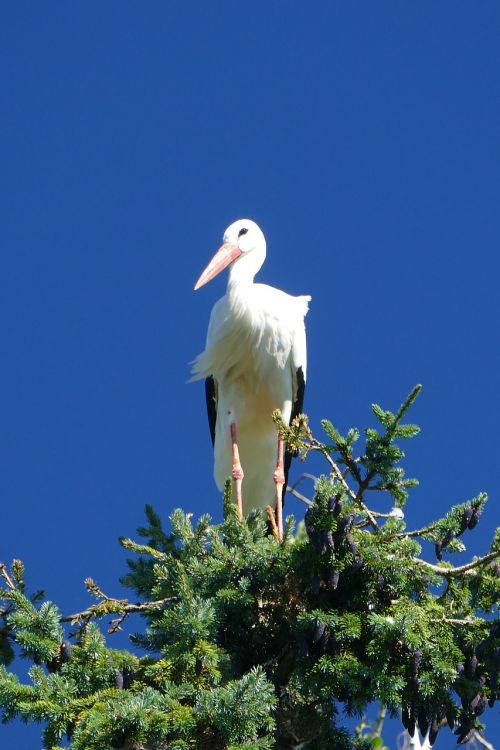
[[[359,451],[357,429],[341,435],[324,421],[321,442],[304,415],[289,427],[274,414],[291,449],[319,452],[328,467],[281,544],[272,513],[240,519],[228,486],[221,524],[175,510],[164,530],[146,507],[142,541],[121,539],[137,601],[88,579],[95,602],[66,615],[30,595],[21,562],[2,564],[3,720],[41,722],[48,750],[67,740],[73,750],[381,750],[382,721],[343,727],[373,702],[400,717],[413,747],[481,733],[500,697],[500,532],[481,557],[449,562],[484,493],[406,528],[416,480],[400,443],[418,432],[403,419],[419,390],[396,413],[373,406],[380,427]],[[422,556],[424,541],[436,560]],[[110,617],[106,638],[99,623]],[[134,617],[131,649],[113,648],[112,632]],[[28,683],[12,671],[15,654],[32,664]]]

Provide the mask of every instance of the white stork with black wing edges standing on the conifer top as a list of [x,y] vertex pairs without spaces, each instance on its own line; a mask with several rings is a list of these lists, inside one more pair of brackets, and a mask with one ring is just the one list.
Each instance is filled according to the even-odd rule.
[[304,317],[311,298],[254,284],[265,257],[266,241],[255,222],[240,219],[224,232],[223,244],[194,287],[199,289],[230,265],[226,294],[210,315],[205,351],[193,363],[193,380],[206,378],[219,490],[231,475],[240,515],[251,508],[275,506],[281,539],[291,455],[283,456],[283,440],[271,414],[280,409],[289,422],[302,411]]

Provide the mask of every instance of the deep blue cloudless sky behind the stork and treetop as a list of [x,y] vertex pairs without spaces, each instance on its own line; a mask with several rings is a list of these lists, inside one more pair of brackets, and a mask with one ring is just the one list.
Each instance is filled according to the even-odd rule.
[[192,287],[242,216],[268,240],[260,280],[312,295],[315,430],[422,382],[410,522],[489,490],[486,550],[499,39],[496,0],[2,7],[1,560],[74,611],[88,575],[121,593],[116,539],[145,502],[220,516],[186,380],[225,279]]

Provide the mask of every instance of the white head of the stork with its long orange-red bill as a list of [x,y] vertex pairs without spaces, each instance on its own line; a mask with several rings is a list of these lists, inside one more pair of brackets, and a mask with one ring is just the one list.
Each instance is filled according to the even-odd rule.
[[232,273],[252,280],[266,257],[266,240],[262,230],[250,219],[233,222],[222,238],[223,244],[196,282],[195,290],[211,281],[232,264]]

